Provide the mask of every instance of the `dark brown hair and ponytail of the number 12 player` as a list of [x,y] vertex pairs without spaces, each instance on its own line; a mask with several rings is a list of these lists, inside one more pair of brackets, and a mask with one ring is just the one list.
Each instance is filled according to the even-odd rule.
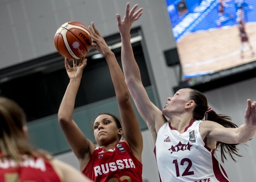
[[[208,103],[206,97],[199,91],[191,89],[190,92],[190,100],[195,101],[195,108],[193,111],[193,117],[195,120],[202,120],[205,116],[206,111],[208,110]],[[217,114],[214,111],[208,112],[208,119],[209,121],[214,121],[225,128],[237,128],[237,125],[231,122],[231,118],[229,116],[225,116],[222,114]],[[216,142],[216,149],[220,150],[221,152],[221,161],[224,162],[224,159],[227,160],[226,154],[227,153],[234,161],[234,155],[241,156],[238,154],[238,149],[236,148],[238,144],[227,144],[223,142]]]

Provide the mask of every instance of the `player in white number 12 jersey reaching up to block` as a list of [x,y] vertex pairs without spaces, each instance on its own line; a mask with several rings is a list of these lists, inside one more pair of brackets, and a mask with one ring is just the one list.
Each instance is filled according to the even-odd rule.
[[256,101],[247,100],[245,124],[238,128],[230,117],[210,109],[201,92],[190,88],[178,90],[168,98],[163,111],[159,110],[149,100],[133,56],[130,43],[133,19],[129,8],[128,3],[123,20],[120,15],[116,16],[122,40],[122,65],[130,94],[155,142],[161,181],[229,181],[214,151],[217,148],[221,151],[222,160],[227,154],[232,158],[240,156],[236,145],[251,139],[256,131]]

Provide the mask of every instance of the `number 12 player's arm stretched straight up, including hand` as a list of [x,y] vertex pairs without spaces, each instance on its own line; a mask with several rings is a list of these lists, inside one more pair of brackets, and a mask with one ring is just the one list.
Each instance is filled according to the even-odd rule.
[[118,29],[122,40],[121,58],[125,74],[125,82],[140,115],[149,127],[153,141],[155,141],[156,134],[159,128],[166,122],[166,119],[162,112],[150,101],[147,92],[142,85],[140,70],[133,55],[130,42],[130,30],[133,22],[138,20],[142,15],[142,8],[135,12],[137,7],[138,5],[135,5],[130,11],[130,3],[127,3],[124,19],[121,20],[120,15],[116,15],[118,20]]

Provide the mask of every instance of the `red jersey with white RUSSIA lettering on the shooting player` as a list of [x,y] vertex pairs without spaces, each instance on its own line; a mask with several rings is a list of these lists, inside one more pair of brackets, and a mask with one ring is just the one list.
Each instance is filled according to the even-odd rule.
[[133,155],[128,144],[121,141],[114,150],[104,151],[97,147],[83,174],[97,182],[142,182],[142,163]]

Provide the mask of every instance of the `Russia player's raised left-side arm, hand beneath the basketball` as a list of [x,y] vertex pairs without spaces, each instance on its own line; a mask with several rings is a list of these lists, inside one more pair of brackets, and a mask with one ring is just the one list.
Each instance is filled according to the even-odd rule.
[[90,159],[90,153],[96,148],[91,141],[85,138],[82,131],[72,119],[76,94],[81,82],[83,69],[86,66],[86,61],[85,58],[81,58],[79,65],[77,65],[76,60],[73,60],[73,66],[71,66],[65,58],[65,68],[70,81],[58,112],[59,123],[74,155],[76,155],[80,162],[80,170],[83,170]]

